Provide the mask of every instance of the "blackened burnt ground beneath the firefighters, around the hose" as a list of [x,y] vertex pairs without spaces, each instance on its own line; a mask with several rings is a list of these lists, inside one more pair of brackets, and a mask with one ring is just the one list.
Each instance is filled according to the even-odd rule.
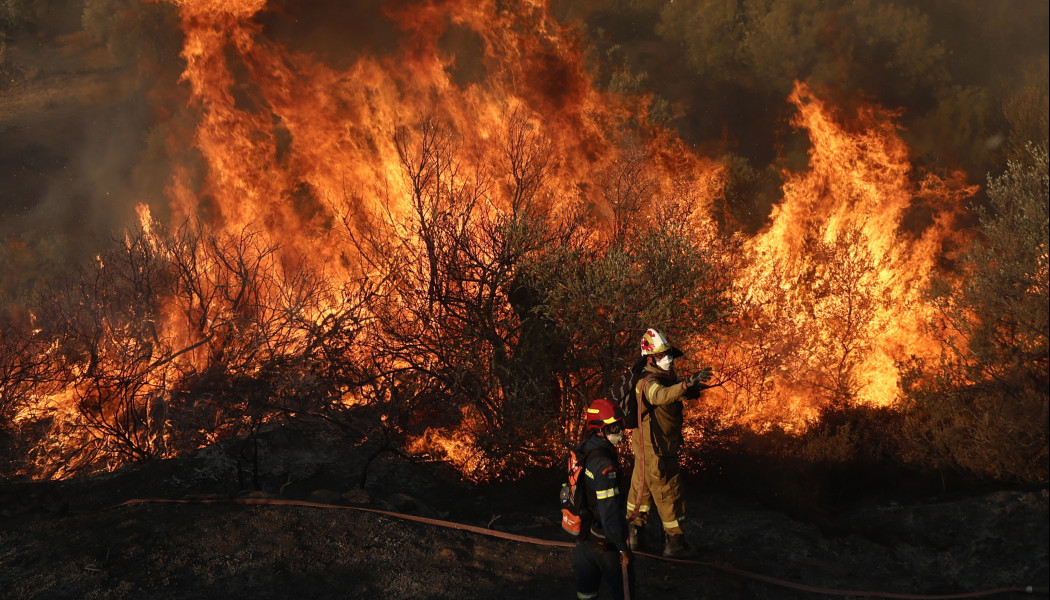
[[[0,598],[574,597],[568,547],[346,509],[564,542],[556,472],[475,487],[441,462],[378,449],[272,432],[259,446],[254,475],[260,490],[254,492],[240,490],[238,480],[250,474],[237,459],[243,448],[232,441],[113,474],[4,483]],[[133,498],[205,502],[118,505]],[[230,498],[333,508],[236,504]],[[687,533],[704,564],[639,557],[637,598],[835,597],[732,570],[808,586],[904,595],[1048,584],[1047,490],[855,500],[807,520],[798,511],[694,484],[689,506],[694,520]],[[658,554],[659,534],[650,527],[648,535]]]

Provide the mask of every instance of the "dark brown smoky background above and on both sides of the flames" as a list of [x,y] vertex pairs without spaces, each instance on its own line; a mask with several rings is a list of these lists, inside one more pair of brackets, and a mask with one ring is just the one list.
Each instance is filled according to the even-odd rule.
[[[255,20],[270,42],[345,68],[397,51],[387,9],[412,2],[274,0]],[[192,157],[193,112],[172,4],[23,4],[0,8],[0,239],[34,237],[60,261],[119,233],[138,203],[163,213],[169,157]],[[742,165],[741,228],[776,202],[769,173],[804,165],[785,100],[794,80],[846,113],[859,100],[899,109],[917,165],[962,168],[974,183],[1046,141],[1043,0],[553,0],[551,11],[582,32],[596,85],[652,95],[653,119]],[[483,77],[477,33],[449,24],[441,43],[454,82]]]

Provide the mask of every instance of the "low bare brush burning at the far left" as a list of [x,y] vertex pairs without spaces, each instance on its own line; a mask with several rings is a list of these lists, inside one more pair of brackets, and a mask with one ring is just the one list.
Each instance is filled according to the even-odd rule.
[[3,324],[5,416],[46,426],[23,469],[112,468],[342,407],[363,380],[363,292],[297,267],[250,229],[169,234],[145,218],[43,294],[33,330]]

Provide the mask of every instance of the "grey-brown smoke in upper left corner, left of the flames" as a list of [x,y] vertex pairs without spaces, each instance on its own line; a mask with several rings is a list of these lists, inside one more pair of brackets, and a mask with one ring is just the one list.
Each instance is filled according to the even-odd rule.
[[181,41],[161,4],[35,7],[2,32],[0,240],[58,272],[109,244],[136,204],[163,205],[170,165],[155,137],[175,113]]

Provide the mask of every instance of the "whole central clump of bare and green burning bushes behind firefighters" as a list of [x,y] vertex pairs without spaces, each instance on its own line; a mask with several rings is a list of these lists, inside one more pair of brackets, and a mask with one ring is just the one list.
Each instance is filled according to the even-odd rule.
[[503,159],[479,165],[444,125],[402,130],[406,215],[346,223],[381,291],[371,346],[395,425],[479,479],[558,455],[645,327],[699,333],[724,305],[724,273],[691,237],[693,207],[652,211],[651,160],[634,154],[605,180],[609,231],[552,204],[550,144],[523,115],[494,143]]

